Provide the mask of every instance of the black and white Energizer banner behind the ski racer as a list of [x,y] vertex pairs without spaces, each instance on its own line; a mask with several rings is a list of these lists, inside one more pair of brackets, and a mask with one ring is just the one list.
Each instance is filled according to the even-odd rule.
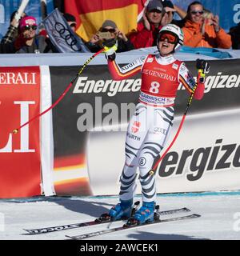
[[[186,64],[196,74],[195,62]],[[158,193],[240,189],[240,61],[210,61],[210,65],[204,98],[192,103],[181,134],[158,166]],[[53,102],[77,70],[77,66],[50,67]],[[140,86],[140,76],[114,81],[106,65],[88,66],[78,78],[72,94],[53,112],[59,193],[118,194],[126,136],[138,140],[135,131],[143,125],[136,122],[126,134]],[[179,86],[166,147],[178,129],[187,99],[186,90]],[[165,130],[159,127],[155,132]]]

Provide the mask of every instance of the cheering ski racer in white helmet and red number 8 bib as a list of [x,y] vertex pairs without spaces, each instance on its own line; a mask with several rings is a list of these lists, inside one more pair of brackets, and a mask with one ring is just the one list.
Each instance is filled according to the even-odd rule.
[[[122,68],[114,61],[116,46],[106,50],[110,74],[114,80],[142,73],[142,86],[135,113],[126,133],[126,162],[120,178],[120,202],[110,209],[110,218],[129,218],[136,189],[137,168],[142,186],[142,207],[133,218],[136,222],[154,220],[156,199],[155,176],[149,175],[154,159],[166,145],[174,121],[174,101],[182,84],[194,98],[202,99],[205,74],[210,66],[202,61],[202,72],[196,82],[184,62],[174,58],[174,50],[182,45],[182,30],[173,24],[163,26],[158,34],[158,54],[136,59]],[[196,89],[195,89],[196,88]]]

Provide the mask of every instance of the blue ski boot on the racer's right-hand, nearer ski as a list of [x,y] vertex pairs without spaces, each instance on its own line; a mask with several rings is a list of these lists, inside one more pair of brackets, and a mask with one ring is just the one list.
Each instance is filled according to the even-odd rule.
[[134,214],[134,220],[136,220],[138,224],[142,224],[144,222],[154,222],[154,210],[154,201],[142,202],[142,207]]

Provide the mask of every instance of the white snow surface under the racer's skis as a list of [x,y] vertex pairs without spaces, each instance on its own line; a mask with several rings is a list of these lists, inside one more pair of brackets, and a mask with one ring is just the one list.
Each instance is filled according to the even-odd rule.
[[[139,200],[141,197],[137,196],[135,199]],[[109,226],[119,226],[123,222],[38,235],[26,234],[23,230],[92,221],[117,202],[118,197],[115,196],[2,199],[0,200],[0,240],[61,240],[67,239],[65,235],[78,235],[103,230]],[[240,239],[240,191],[161,194],[158,195],[157,202],[160,210],[188,207],[190,213],[201,214],[202,217],[122,230],[90,240]],[[169,217],[181,215],[183,214],[169,215]]]

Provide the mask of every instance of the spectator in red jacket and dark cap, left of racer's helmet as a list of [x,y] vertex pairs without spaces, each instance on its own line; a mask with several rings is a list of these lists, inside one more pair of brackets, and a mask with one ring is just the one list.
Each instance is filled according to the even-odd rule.
[[160,0],[150,0],[138,22],[136,32],[130,34],[130,41],[135,49],[157,45],[158,31],[162,27],[162,17],[165,14]]

